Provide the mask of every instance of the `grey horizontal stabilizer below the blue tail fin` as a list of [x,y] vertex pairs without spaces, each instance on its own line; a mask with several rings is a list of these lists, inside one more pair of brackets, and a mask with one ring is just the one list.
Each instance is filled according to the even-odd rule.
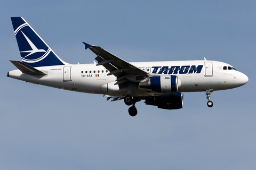
[[42,71],[39,71],[35,69],[34,67],[31,67],[25,63],[22,63],[20,61],[10,60],[13,65],[15,65],[22,73],[30,74],[30,75],[46,75]]

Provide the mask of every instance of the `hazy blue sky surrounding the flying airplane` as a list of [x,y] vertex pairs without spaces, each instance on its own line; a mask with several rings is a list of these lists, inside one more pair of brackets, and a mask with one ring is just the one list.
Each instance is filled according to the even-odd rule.
[[[255,169],[255,1],[1,1],[1,169]],[[249,77],[243,87],[184,94],[182,109],[7,78],[21,61],[22,16],[68,63],[93,63],[83,41],[128,62],[207,60]]]

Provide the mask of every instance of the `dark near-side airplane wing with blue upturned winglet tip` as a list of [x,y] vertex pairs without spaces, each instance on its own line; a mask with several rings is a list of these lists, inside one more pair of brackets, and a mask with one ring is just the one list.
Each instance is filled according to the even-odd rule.
[[137,82],[141,79],[147,78],[150,74],[107,52],[107,50],[99,46],[92,46],[86,43],[84,43],[84,45],[85,49],[89,48],[97,55],[95,58],[95,60],[98,61],[97,65],[104,66],[109,71],[108,75],[115,75],[117,78],[117,82],[115,84],[118,84],[120,89],[124,87],[125,83],[128,81]]

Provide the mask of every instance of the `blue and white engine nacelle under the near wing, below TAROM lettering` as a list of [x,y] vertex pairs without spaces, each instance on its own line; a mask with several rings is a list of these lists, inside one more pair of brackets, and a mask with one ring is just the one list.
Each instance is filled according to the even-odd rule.
[[146,79],[140,82],[139,86],[156,92],[176,92],[181,85],[178,82],[179,78],[176,75],[161,75]]

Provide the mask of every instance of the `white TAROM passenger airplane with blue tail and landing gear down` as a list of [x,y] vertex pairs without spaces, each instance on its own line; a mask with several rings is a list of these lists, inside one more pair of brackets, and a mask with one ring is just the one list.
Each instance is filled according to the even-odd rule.
[[18,70],[7,77],[63,90],[101,94],[107,100],[124,100],[131,116],[137,115],[135,103],[162,109],[183,107],[182,92],[205,91],[207,106],[211,93],[243,86],[248,77],[233,66],[218,61],[126,62],[107,50],[87,43],[97,57],[93,64],[69,64],[60,59],[21,17],[11,17],[21,55],[10,60]]

